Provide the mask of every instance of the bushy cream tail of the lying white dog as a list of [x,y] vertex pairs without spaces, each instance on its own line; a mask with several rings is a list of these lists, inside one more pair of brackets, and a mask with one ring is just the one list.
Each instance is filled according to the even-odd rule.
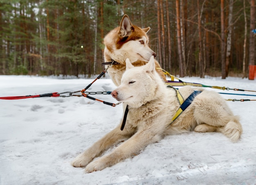
[[243,132],[238,116],[234,116],[233,119],[230,120],[224,127],[218,128],[218,132],[221,132],[233,142],[238,141]]

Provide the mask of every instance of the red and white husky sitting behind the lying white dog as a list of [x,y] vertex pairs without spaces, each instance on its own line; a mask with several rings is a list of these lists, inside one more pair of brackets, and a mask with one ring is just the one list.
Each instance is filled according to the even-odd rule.
[[[132,25],[129,17],[124,15],[120,26],[113,29],[105,36],[105,62],[115,60],[119,63],[108,69],[108,74],[116,86],[121,84],[121,78],[126,70],[127,58],[130,59],[133,66],[142,66],[150,60],[151,56],[157,56],[157,54],[148,47],[148,36],[146,33],[149,30],[150,27],[140,28]],[[160,68],[156,60],[155,67]],[[157,69],[157,72],[161,78],[166,81],[162,70]]]

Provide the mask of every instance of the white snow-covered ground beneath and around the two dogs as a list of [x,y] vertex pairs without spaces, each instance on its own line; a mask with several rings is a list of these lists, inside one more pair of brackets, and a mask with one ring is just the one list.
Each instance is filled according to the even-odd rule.
[[[241,78],[182,80],[256,90],[255,80]],[[90,82],[92,79],[0,76],[0,97],[78,91]],[[115,85],[105,78],[88,91],[113,89]],[[117,103],[111,95],[92,96]],[[228,104],[243,125],[237,143],[216,132],[167,136],[133,158],[85,174],[70,161],[119,123],[122,105],[111,107],[83,97],[0,100],[0,185],[256,184],[256,101]]]

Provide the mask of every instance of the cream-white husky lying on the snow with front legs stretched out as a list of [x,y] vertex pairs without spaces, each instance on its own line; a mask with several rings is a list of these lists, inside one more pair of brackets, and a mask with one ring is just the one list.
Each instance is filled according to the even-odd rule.
[[[133,67],[127,59],[126,69],[121,85],[111,93],[118,101],[128,104],[124,130],[120,130],[120,123],[77,156],[72,162],[73,166],[86,166],[86,172],[101,170],[138,154],[148,144],[157,142],[169,134],[190,131],[221,132],[232,141],[240,138],[242,126],[238,117],[232,114],[218,93],[193,87],[180,88],[179,92],[184,100],[195,90],[202,92],[191,100],[192,103],[170,125],[180,103],[177,91],[167,88],[155,71],[154,58],[151,57],[148,64],[141,67]],[[103,151],[127,138],[128,140],[110,154],[92,161]]]

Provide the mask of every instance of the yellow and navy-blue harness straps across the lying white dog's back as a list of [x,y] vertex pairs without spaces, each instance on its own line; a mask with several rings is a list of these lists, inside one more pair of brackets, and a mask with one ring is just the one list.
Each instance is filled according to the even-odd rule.
[[180,103],[180,107],[179,109],[176,111],[176,113],[174,114],[172,121],[169,125],[171,125],[179,116],[180,114],[182,114],[182,112],[189,107],[189,105],[193,102],[195,96],[197,96],[198,94],[200,94],[202,91],[193,91],[188,98],[186,98],[186,100],[184,101],[183,97],[181,96],[180,92],[178,91],[178,89],[172,87],[172,86],[167,86],[167,87],[171,87],[176,91],[177,94],[177,99],[179,100]]

